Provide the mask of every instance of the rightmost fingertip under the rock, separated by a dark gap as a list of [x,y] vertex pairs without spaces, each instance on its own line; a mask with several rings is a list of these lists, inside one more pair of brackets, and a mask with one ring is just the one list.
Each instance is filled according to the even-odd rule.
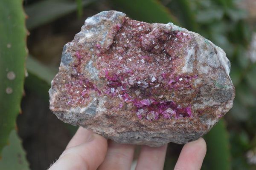
[[185,144],[174,170],[200,170],[205,154],[206,143],[203,138]]

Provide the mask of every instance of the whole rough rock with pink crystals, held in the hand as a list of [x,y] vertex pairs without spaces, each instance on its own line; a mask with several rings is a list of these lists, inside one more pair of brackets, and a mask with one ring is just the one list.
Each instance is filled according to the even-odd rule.
[[172,23],[125,16],[89,17],[64,46],[52,112],[120,143],[159,147],[207,133],[235,97],[225,52]]

